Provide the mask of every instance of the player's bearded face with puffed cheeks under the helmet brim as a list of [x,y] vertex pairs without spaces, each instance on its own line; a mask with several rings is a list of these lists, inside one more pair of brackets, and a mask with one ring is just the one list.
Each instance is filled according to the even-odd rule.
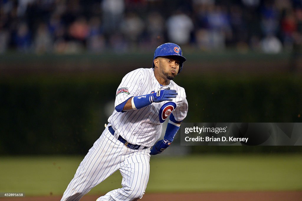
[[158,57],[157,59],[159,59],[159,72],[168,80],[173,80],[178,73],[180,61],[172,56]]

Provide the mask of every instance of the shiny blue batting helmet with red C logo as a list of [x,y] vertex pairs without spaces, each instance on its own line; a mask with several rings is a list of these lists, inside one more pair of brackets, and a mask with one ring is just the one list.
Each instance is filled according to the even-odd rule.
[[187,60],[184,56],[182,56],[182,49],[175,43],[164,43],[156,48],[153,57],[153,68],[155,67],[154,59],[159,56],[177,56],[180,60],[179,70],[177,74],[182,71],[184,62]]

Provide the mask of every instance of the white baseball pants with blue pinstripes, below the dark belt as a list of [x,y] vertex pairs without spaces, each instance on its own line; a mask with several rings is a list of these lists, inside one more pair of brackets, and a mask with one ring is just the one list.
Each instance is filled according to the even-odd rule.
[[80,163],[61,201],[76,201],[93,187],[120,170],[122,188],[97,201],[137,200],[143,197],[149,180],[150,148],[133,150],[114,138],[106,128]]

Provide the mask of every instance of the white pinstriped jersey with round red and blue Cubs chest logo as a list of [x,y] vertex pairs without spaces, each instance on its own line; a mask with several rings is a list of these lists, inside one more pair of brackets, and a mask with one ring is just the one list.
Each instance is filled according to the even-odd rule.
[[188,102],[185,89],[172,80],[169,85],[161,86],[154,76],[153,68],[140,68],[129,72],[124,76],[117,89],[114,107],[132,96],[150,94],[153,91],[156,92],[168,87],[178,93],[176,98],[172,98],[174,104],[171,101],[163,101],[152,103],[139,110],[127,112],[114,110],[108,118],[108,125],[111,124],[113,129],[131,144],[153,146],[160,138],[162,123],[165,118],[169,119],[170,111],[176,121],[182,121],[187,116]]

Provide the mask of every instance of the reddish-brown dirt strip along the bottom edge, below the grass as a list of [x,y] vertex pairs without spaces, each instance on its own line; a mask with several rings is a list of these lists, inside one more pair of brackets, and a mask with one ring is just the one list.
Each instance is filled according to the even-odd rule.
[[[81,201],[95,201],[99,196],[86,195]],[[0,198],[5,201],[58,201],[60,196]],[[302,191],[283,192],[219,192],[219,193],[146,193],[142,201],[299,201]]]

